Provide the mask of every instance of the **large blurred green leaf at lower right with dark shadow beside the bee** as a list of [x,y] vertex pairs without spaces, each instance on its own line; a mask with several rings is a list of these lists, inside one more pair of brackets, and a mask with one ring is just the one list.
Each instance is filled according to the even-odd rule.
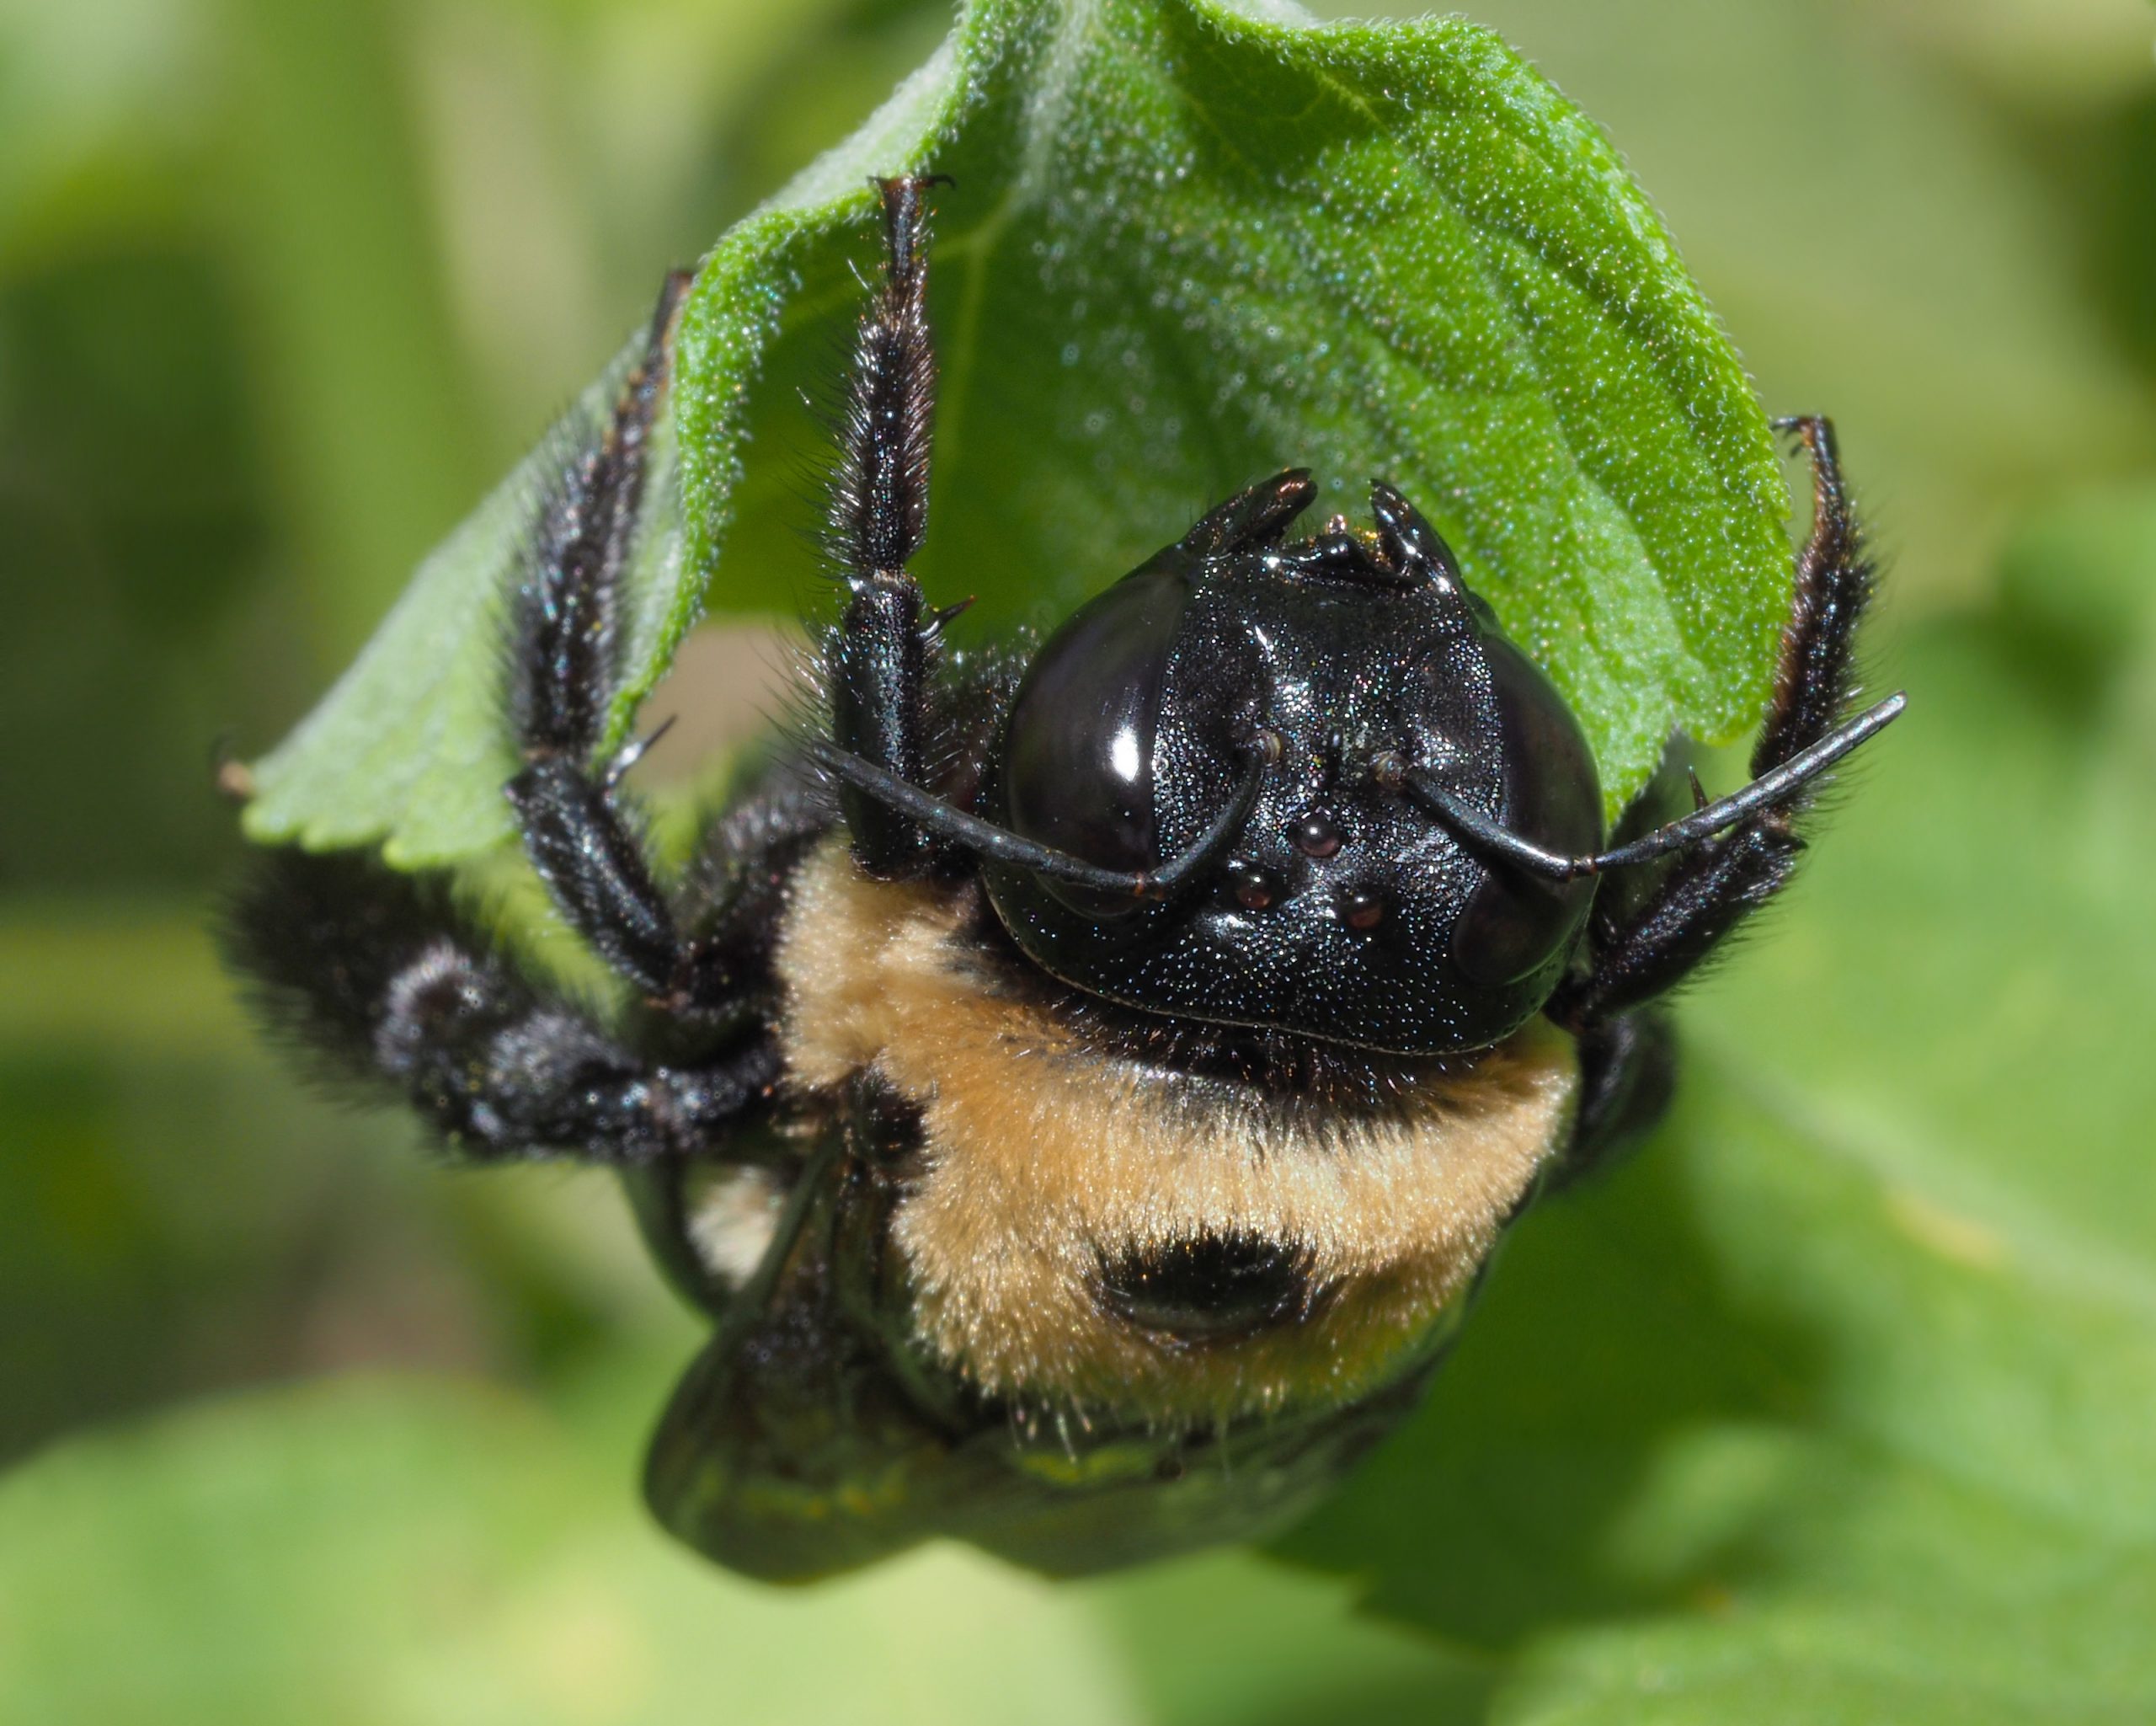
[[[2042,537],[2145,654],[2156,518],[2104,516]],[[2156,794],[2046,652],[1915,639],[1908,725],[1686,1012],[1671,1131],[1529,1219],[1291,1540],[1503,1650],[1507,1722],[2156,1709]]]

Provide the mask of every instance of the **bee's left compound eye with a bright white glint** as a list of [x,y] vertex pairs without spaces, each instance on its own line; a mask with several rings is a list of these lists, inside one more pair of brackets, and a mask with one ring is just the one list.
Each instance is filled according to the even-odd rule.
[[[1048,639],[1003,734],[1003,809],[1015,833],[1104,869],[1160,865],[1153,729],[1188,604],[1179,567],[1145,565]],[[1067,882],[1041,887],[1089,917],[1138,906]]]

